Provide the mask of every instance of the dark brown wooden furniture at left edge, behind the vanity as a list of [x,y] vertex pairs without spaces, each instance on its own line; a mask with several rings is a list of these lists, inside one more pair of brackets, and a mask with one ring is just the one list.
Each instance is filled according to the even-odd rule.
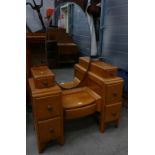
[[28,91],[28,78],[31,77],[31,67],[46,65],[45,33],[26,33],[26,105],[29,107],[30,95]]

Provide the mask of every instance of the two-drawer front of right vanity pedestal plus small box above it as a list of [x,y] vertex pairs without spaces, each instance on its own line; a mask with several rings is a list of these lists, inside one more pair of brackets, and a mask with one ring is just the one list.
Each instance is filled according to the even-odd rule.
[[102,77],[103,98],[105,111],[105,124],[109,122],[119,123],[121,111],[121,98],[123,80],[117,77],[117,67],[101,61],[92,62],[91,72]]

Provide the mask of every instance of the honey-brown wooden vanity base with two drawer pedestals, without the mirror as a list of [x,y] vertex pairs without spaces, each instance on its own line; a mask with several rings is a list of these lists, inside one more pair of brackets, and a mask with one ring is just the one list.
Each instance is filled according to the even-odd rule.
[[[48,70],[47,67],[45,70]],[[46,78],[53,75],[51,73],[51,76],[47,76],[46,73],[40,71]],[[63,144],[64,119],[97,114],[100,132],[104,132],[109,123],[115,124],[116,127],[119,124],[123,80],[117,77],[117,67],[81,57],[79,63],[75,64],[74,76],[73,81],[54,83],[52,87],[41,89],[36,88],[35,76],[29,79],[40,153],[52,139],[57,139]],[[72,89],[66,90],[67,87]]]

